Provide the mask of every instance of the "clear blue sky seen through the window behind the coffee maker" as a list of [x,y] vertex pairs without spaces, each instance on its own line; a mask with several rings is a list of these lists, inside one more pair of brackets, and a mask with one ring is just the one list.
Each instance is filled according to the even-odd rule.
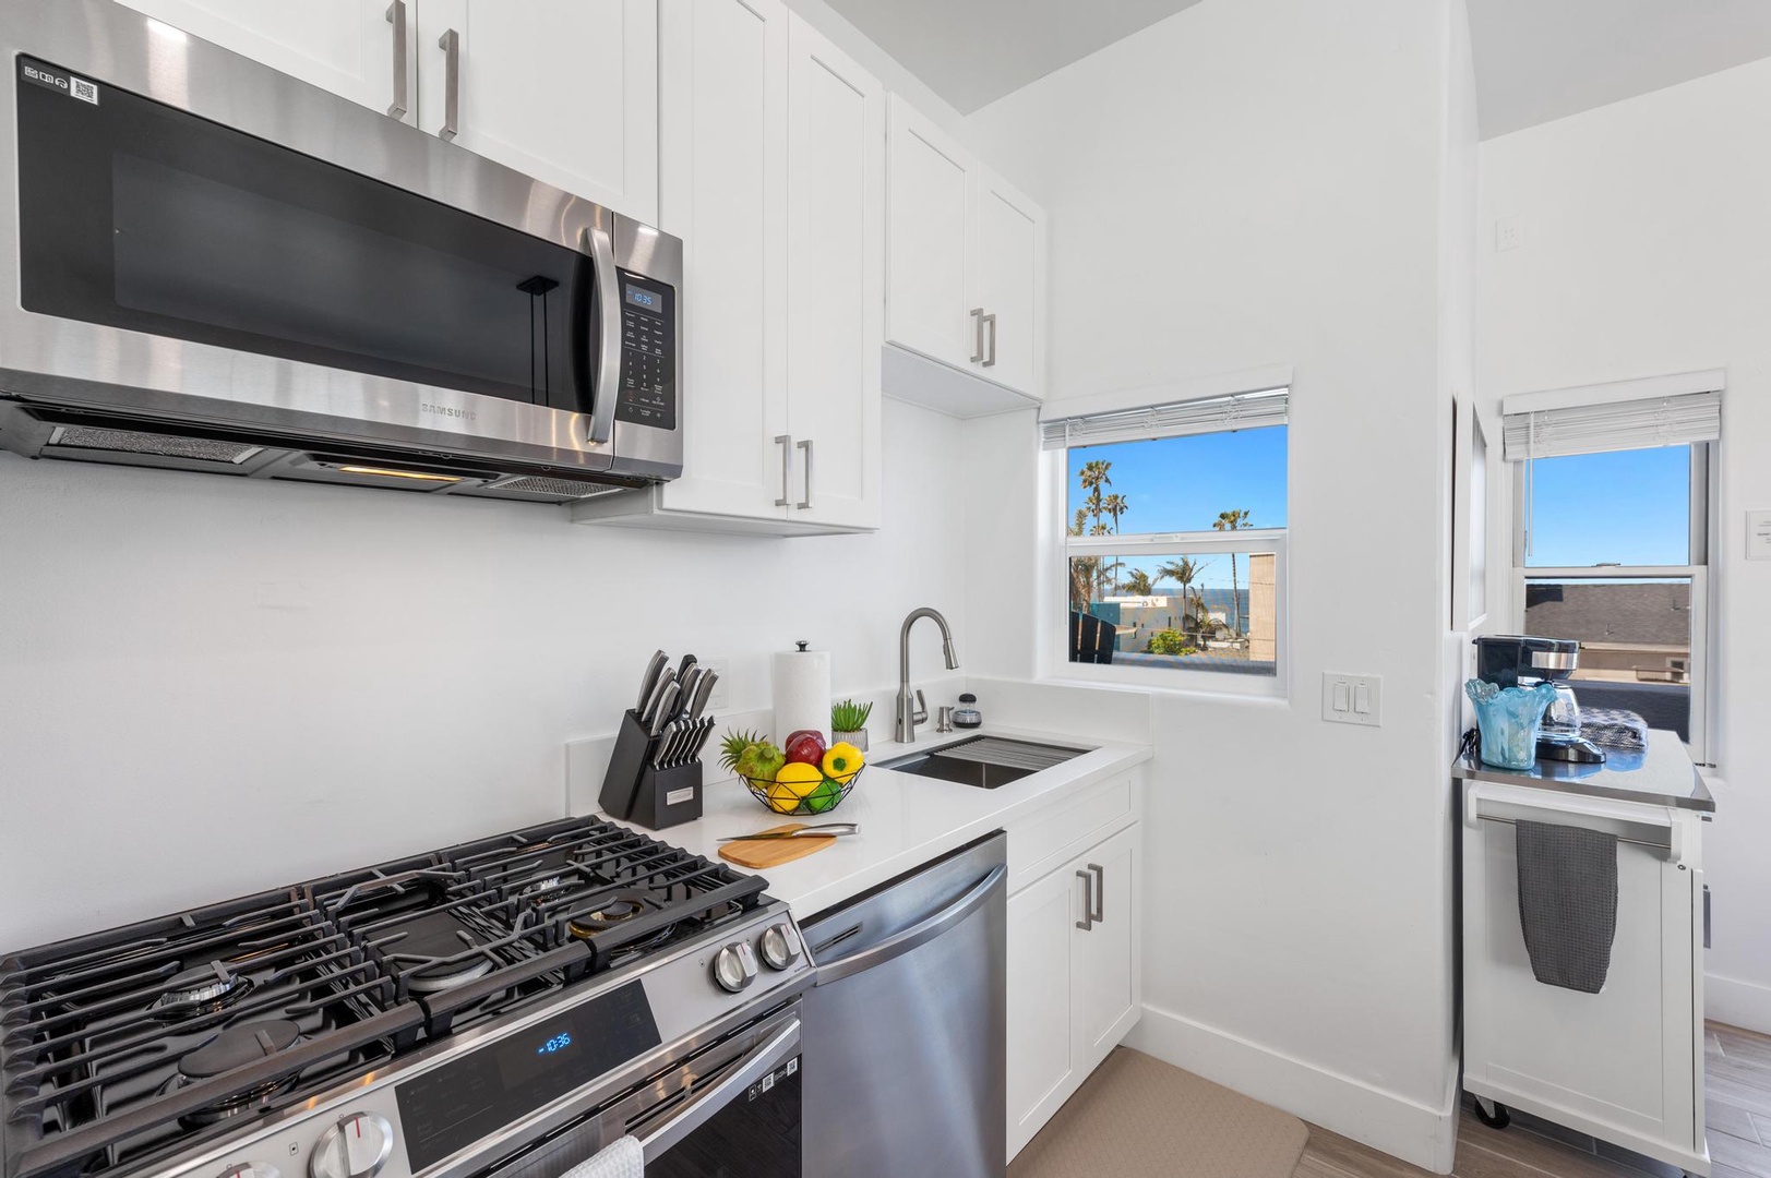
[[1690,446],[1537,459],[1534,484],[1537,535],[1528,565],[1690,560]]

